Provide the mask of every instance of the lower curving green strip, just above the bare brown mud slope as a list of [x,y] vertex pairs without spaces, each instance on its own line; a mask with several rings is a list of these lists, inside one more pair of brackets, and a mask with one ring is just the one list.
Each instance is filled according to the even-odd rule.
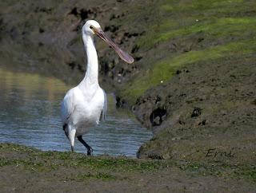
[[[150,89],[152,86],[159,85],[161,81],[170,81],[174,73],[185,65],[196,62],[214,61],[219,58],[232,57],[233,54],[248,55],[256,50],[256,39],[251,41],[238,41],[226,45],[218,45],[199,51],[190,51],[182,53],[176,57],[165,58],[153,65],[153,68],[147,70],[143,76],[131,81],[130,87],[124,90],[122,96],[130,99],[136,99]],[[134,100],[133,100],[134,103]]]

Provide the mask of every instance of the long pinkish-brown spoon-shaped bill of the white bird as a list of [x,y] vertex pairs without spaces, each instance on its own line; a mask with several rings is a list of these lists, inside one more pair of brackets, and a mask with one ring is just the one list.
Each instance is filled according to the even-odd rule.
[[106,33],[104,33],[101,29],[94,29],[94,33],[96,33],[98,37],[102,38],[102,40],[106,41],[106,43],[111,45],[111,47],[118,53],[119,57],[121,57],[123,61],[126,61],[129,64],[134,62],[134,58],[122,49],[120,49],[118,45],[115,44],[114,41],[110,39],[110,37],[107,37]]

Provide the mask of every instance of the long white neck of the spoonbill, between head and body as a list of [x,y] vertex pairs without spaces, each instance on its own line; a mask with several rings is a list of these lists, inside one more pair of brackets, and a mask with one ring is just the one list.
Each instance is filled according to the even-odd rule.
[[98,56],[94,45],[94,37],[82,34],[87,54],[86,76],[83,83],[88,85],[98,85]]

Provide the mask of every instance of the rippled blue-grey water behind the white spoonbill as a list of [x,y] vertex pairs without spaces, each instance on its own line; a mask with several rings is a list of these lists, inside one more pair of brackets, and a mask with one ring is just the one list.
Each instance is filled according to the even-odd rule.
[[[70,86],[54,78],[0,69],[0,143],[23,144],[42,150],[70,151],[60,119],[60,103]],[[94,155],[136,156],[152,133],[129,112],[115,108],[108,95],[106,121],[83,136]],[[86,152],[75,140],[75,151]]]

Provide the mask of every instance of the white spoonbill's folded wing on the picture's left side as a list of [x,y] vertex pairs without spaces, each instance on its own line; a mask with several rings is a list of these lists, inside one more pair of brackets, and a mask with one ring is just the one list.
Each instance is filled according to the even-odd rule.
[[70,89],[62,100],[62,124],[67,124],[74,112],[74,89]]

